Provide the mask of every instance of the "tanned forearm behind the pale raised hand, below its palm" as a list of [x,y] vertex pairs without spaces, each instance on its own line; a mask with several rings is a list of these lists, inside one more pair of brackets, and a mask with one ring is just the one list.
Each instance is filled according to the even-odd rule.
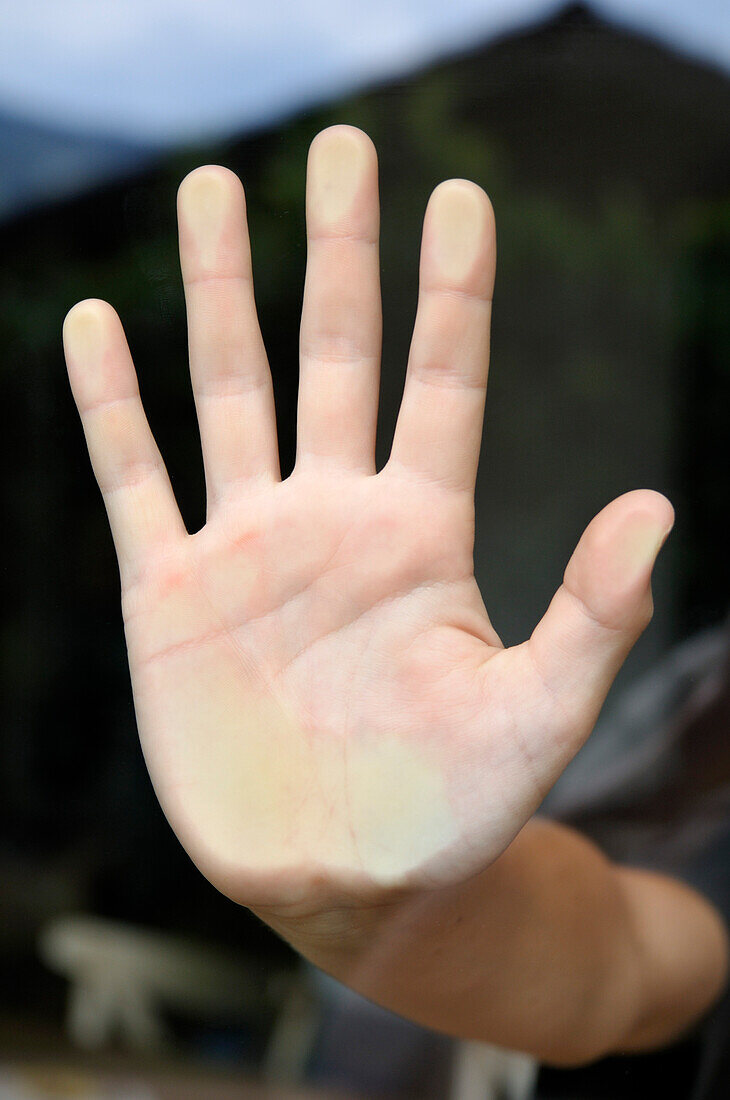
[[391,1011],[553,1064],[671,1042],[725,977],[725,932],[708,903],[540,820],[458,887],[356,919],[259,915]]

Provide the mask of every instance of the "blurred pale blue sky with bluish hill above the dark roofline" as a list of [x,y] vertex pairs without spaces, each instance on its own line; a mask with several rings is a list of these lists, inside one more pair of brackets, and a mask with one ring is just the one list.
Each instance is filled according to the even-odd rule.
[[[565,0],[0,0],[0,218],[555,15]],[[588,0],[730,72],[730,0]]]

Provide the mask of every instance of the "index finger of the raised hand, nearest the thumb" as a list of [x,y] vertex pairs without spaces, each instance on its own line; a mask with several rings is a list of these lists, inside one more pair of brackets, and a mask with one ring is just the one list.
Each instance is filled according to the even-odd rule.
[[495,263],[485,193],[466,179],[440,184],[423,223],[418,311],[390,469],[474,490]]

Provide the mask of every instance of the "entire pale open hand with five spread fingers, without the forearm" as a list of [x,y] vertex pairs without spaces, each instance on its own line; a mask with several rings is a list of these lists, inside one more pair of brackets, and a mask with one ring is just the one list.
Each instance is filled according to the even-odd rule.
[[153,782],[203,873],[273,910],[365,904],[497,858],[590,732],[645,624],[671,510],[645,492],[613,502],[530,641],[502,649],[472,561],[488,201],[465,182],[432,197],[403,406],[375,473],[374,153],[350,128],[312,150],[290,477],[278,479],[228,173],[198,169],[180,189],[202,530],[181,527],[115,315],[82,304],[66,326]]

